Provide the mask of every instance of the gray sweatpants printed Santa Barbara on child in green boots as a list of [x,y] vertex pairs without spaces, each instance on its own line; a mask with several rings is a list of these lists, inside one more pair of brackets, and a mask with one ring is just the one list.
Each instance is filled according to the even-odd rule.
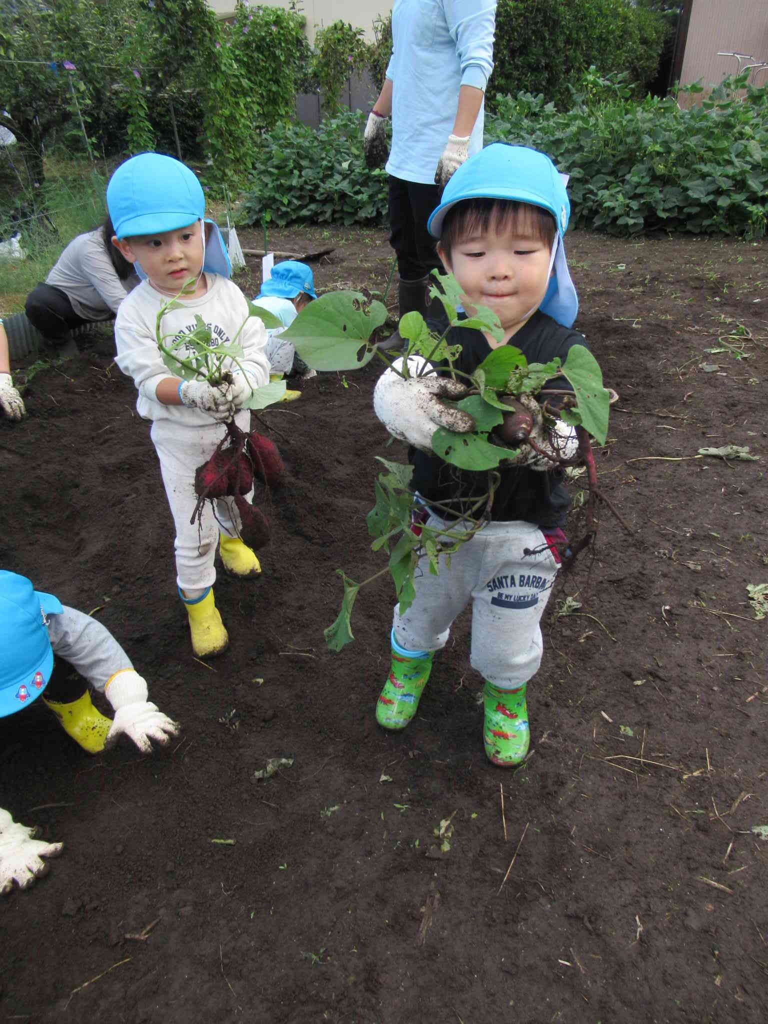
[[[427,525],[462,527],[435,515]],[[562,534],[557,537],[564,540]],[[416,600],[400,615],[394,636],[409,650],[441,650],[456,616],[472,602],[470,662],[483,679],[514,689],[536,675],[542,660],[540,622],[558,570],[545,535],[529,522],[490,522],[451,556],[439,575],[425,555],[416,568]],[[536,550],[523,555],[524,549]],[[543,549],[543,550],[540,550]]]

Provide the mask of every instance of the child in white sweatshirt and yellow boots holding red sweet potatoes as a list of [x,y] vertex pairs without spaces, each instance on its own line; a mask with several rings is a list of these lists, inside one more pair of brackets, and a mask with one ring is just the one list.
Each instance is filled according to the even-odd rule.
[[[160,459],[168,504],[176,527],[178,592],[189,620],[193,650],[208,657],[226,649],[228,636],[213,598],[216,547],[224,568],[240,578],[261,572],[258,558],[239,538],[233,500],[210,503],[190,524],[196,505],[195,470],[206,462],[234,416],[247,431],[243,402],[266,384],[266,331],[228,281],[229,259],[218,227],[205,220],[205,197],[195,174],[171,157],[142,153],[122,164],[106,186],[115,226],[113,244],[144,280],[120,305],[115,324],[117,364],[138,390],[139,416],[152,420],[152,440]],[[229,367],[230,383],[182,381],[169,373],[156,341],[161,307],[175,298],[163,318],[164,334],[176,338],[195,330],[202,317],[211,345],[237,337],[243,350]],[[242,330],[241,330],[242,328]],[[184,346],[176,350],[184,355]],[[240,411],[239,411],[240,410]]]

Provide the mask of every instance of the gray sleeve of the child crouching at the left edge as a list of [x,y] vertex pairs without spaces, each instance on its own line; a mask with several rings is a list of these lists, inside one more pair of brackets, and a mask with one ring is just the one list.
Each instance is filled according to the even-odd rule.
[[105,626],[76,608],[62,605],[60,614],[48,615],[48,637],[53,653],[103,691],[116,672],[132,669],[126,652]]

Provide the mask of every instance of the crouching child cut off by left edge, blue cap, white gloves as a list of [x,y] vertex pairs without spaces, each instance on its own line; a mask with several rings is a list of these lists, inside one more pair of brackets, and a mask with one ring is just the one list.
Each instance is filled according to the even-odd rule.
[[[95,618],[36,591],[26,577],[2,570],[0,622],[0,718],[42,695],[88,754],[111,746],[121,735],[148,754],[153,742],[163,745],[178,734],[178,725],[150,702],[146,682]],[[114,720],[93,707],[88,685],[104,694]],[[41,857],[60,852],[60,843],[42,843],[33,835],[0,810],[0,892],[8,892],[14,882],[26,888],[45,872]]]

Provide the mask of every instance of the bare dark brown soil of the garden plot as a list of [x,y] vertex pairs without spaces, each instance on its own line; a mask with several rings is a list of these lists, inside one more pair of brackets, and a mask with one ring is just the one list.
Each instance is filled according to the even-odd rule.
[[[269,244],[335,246],[321,290],[385,289],[383,229]],[[29,418],[0,424],[0,564],[93,609],[183,735],[89,758],[42,703],[0,723],[0,806],[66,844],[0,905],[1,1020],[768,1019],[766,622],[746,591],[768,582],[768,246],[575,232],[568,254],[620,394],[600,485],[631,534],[603,509],[550,601],[515,771],[483,756],[467,614],[402,734],[374,721],[390,585],[360,593],[353,644],[325,647],[335,570],[383,564],[375,456],[404,459],[374,365],[262,416],[289,481],[265,498],[261,581],[216,585],[231,646],[210,666],[132,382],[93,349],[31,380]],[[760,461],[698,456],[728,443]],[[274,757],[295,760],[255,781]]]

